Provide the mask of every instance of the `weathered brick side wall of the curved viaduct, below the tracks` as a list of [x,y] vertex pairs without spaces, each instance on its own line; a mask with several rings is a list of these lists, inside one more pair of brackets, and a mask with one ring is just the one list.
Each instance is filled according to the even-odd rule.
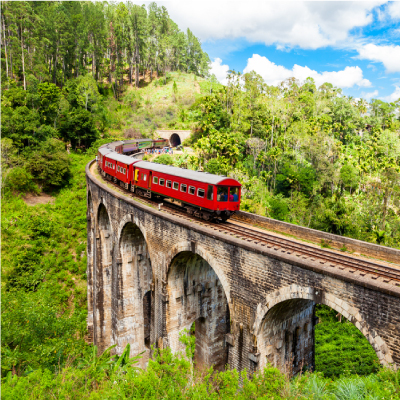
[[[291,349],[297,365],[312,364],[311,310],[316,303],[326,304],[351,320],[369,340],[382,363],[400,363],[399,287],[380,278],[375,280],[368,275],[322,265],[317,260],[298,258],[284,250],[248,243],[190,223],[116,192],[97,180],[89,167],[86,173],[88,197],[93,208],[93,217],[88,214],[91,218],[88,230],[97,235],[92,257],[96,267],[92,279],[88,280],[88,290],[93,290],[95,300],[93,311],[89,308],[88,323],[93,320],[94,342],[101,348],[118,340],[118,351],[126,342],[134,347],[132,341],[140,342],[137,349],[144,348],[142,296],[150,291],[150,342],[156,347],[169,345],[178,348],[176,337],[179,330],[190,327],[196,320],[199,324],[198,340],[207,343],[210,349],[206,363],[221,363],[227,353],[231,368],[254,371],[265,365],[267,359],[274,362],[275,354],[278,354],[276,363],[282,365],[279,352],[271,352],[268,347],[274,346],[276,350]],[[109,217],[108,225],[106,215]],[[146,272],[144,265],[136,267],[139,280],[140,274],[147,276],[147,280],[141,283],[139,297],[130,292],[130,286],[135,287],[135,284],[129,282],[128,272],[119,272],[121,257],[122,265],[124,257],[130,257],[123,255],[120,249],[127,224],[133,224],[135,231],[141,232],[141,246],[146,246]],[[131,237],[127,238],[129,242],[137,241]],[[178,273],[174,269],[186,272]],[[195,295],[188,294],[194,290],[194,285],[185,284],[189,272],[196,276],[196,285],[202,285],[197,292],[197,305]],[[207,283],[210,284],[208,288]],[[177,300],[179,298],[181,300]],[[114,310],[112,324],[109,322],[111,299]],[[290,305],[289,312],[286,310],[288,303],[284,302],[292,299],[299,301]],[[142,310],[141,315],[137,314],[136,322],[118,311],[118,304],[128,305],[129,302],[136,302],[138,313]],[[280,303],[284,306],[275,310],[281,311],[269,314]],[[227,309],[224,309],[224,304],[227,304]],[[208,327],[202,325],[205,315],[212,320]],[[224,325],[223,318],[227,315],[230,323]],[[132,333],[137,329],[136,323],[141,324],[143,330],[140,338],[135,338]],[[279,333],[283,329],[288,333]],[[224,331],[227,334],[222,340]],[[278,349],[279,340],[282,340],[282,346]],[[223,356],[221,348],[226,351]],[[201,358],[205,359],[205,355]]]

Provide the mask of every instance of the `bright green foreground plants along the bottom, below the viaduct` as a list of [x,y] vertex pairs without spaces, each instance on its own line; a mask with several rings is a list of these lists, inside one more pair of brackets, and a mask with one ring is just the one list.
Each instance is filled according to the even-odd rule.
[[[292,381],[278,369],[268,366],[249,378],[246,371],[194,372],[186,357],[169,349],[155,350],[146,370],[135,367],[138,357],[123,354],[102,355],[96,347],[83,351],[83,357],[57,372],[29,370],[24,376],[3,378],[2,398],[8,399],[399,399],[400,375],[382,369],[367,377],[342,377],[332,381],[320,374],[299,375]],[[121,359],[124,361],[122,362]]]

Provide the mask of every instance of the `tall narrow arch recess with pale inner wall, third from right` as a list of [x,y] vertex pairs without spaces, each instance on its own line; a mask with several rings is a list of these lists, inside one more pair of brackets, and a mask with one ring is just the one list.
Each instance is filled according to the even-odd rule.
[[144,367],[150,351],[145,347],[143,298],[151,291],[153,272],[146,239],[133,222],[126,222],[121,230],[119,253],[113,294],[116,352],[121,354],[128,343],[131,357],[145,351],[141,358]]

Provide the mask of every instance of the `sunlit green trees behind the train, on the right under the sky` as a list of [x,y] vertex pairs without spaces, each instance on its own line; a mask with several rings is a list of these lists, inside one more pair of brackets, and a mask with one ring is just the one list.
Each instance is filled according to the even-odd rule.
[[[199,168],[243,185],[243,210],[399,247],[399,104],[354,103],[311,78],[267,86],[254,71],[196,100]],[[340,96],[339,96],[340,94]]]

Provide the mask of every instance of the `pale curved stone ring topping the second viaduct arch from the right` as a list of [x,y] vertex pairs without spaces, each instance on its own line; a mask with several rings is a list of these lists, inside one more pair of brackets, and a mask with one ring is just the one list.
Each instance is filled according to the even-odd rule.
[[183,241],[177,243],[175,246],[172,247],[172,249],[168,252],[166,258],[165,258],[165,263],[166,263],[166,275],[168,274],[168,270],[171,267],[172,260],[179,254],[184,251],[189,251],[194,254],[199,255],[201,258],[203,258],[205,261],[210,264],[211,268],[215,271],[215,273],[218,276],[218,279],[221,282],[222,287],[224,288],[225,296],[228,300],[228,304],[230,304],[231,301],[231,296],[230,296],[230,286],[228,279],[225,275],[225,272],[222,270],[222,268],[219,266],[217,260],[207,251],[205,250],[202,246],[196,244],[192,244],[192,242],[188,241]]

